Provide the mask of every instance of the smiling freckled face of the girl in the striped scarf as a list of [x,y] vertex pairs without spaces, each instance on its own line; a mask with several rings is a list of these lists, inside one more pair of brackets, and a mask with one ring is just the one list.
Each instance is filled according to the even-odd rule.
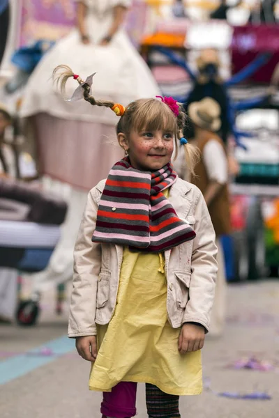
[[130,164],[137,170],[156,171],[170,162],[174,150],[173,132],[130,132],[118,134],[120,146],[128,151]]

